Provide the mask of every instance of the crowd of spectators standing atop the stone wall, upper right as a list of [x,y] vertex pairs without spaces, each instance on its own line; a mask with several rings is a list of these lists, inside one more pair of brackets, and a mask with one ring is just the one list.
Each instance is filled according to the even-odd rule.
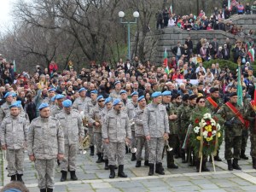
[[250,5],[249,3],[242,4],[236,0],[231,1],[230,8],[228,1],[224,0],[222,9],[214,8],[212,15],[208,16],[203,10],[199,15],[176,15],[172,11],[164,9],[156,14],[156,28],[178,26],[184,30],[223,30],[234,35],[245,36],[255,35],[251,30],[244,29],[242,26],[237,26],[232,21],[225,22],[231,15],[255,15],[256,1]]

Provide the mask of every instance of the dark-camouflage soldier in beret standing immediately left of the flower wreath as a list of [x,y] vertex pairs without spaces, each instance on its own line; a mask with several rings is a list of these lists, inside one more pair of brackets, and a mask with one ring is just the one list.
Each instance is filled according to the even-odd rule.
[[[193,153],[193,148],[189,145],[189,139],[185,142],[185,137],[190,125],[190,114],[195,110],[196,106],[196,98],[197,95],[191,95],[189,96],[189,105],[187,105],[185,108],[183,108],[182,113],[180,114],[180,131],[179,131],[179,142],[180,142],[180,148],[181,148],[181,156],[182,156],[182,163],[186,163],[189,160],[190,166],[195,166],[195,160],[192,160],[191,154]],[[187,102],[184,102],[184,105],[186,105]],[[187,160],[186,160],[186,153],[187,153]],[[195,155],[194,155],[195,156]]]

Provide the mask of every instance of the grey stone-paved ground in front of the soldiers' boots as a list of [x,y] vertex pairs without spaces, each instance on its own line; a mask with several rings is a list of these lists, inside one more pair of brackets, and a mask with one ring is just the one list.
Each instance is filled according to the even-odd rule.
[[[247,148],[247,155],[249,148]],[[224,159],[223,148],[220,156]],[[131,154],[126,154],[125,173],[128,178],[109,179],[109,171],[103,169],[104,165],[96,164],[96,155],[90,157],[89,154],[79,154],[77,176],[79,181],[68,180],[65,183],[60,182],[60,167],[56,167],[55,173],[55,190],[58,192],[115,192],[115,191],[201,191],[201,192],[220,192],[220,191],[255,191],[256,190],[256,170],[252,168],[251,159],[240,160],[242,171],[229,172],[226,162],[216,162],[216,172],[213,172],[212,164],[207,166],[212,172],[195,172],[195,167],[189,167],[182,164],[177,159],[177,170],[166,169],[165,176],[155,174],[148,177],[148,167],[135,168],[135,161],[131,162]],[[2,185],[9,183],[7,171],[3,169],[7,165],[6,161],[2,162],[0,170],[2,172]],[[26,186],[32,192],[38,192],[37,177],[38,174],[33,163],[26,157],[25,160],[24,181]],[[3,177],[4,176],[4,177]],[[69,175],[68,175],[69,179]]]

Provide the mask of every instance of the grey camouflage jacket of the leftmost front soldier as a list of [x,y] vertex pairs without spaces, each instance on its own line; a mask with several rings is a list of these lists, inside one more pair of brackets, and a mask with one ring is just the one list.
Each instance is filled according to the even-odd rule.
[[1,144],[9,149],[24,148],[27,140],[28,121],[25,117],[9,115],[1,124]]

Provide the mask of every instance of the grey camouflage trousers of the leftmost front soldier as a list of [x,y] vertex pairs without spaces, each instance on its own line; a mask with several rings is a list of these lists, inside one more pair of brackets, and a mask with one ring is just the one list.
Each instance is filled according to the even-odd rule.
[[24,149],[7,149],[6,159],[8,162],[8,176],[23,174],[24,168]]

